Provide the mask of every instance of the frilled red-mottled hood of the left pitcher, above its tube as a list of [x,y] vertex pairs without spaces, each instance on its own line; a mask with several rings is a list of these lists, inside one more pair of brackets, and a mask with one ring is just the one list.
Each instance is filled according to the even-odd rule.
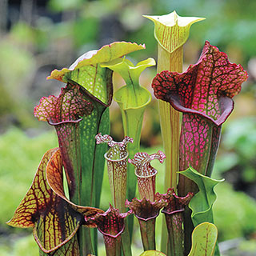
[[68,83],[58,97],[50,95],[48,98],[41,98],[39,105],[34,108],[34,116],[39,121],[56,123],[75,121],[89,115],[93,104],[86,100],[81,90],[78,85]]

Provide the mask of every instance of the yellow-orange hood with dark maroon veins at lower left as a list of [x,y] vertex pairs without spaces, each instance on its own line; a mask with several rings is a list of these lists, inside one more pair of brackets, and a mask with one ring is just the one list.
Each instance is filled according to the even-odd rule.
[[[62,171],[58,148],[48,150],[44,154],[30,190],[15,211],[14,217],[8,222],[10,226],[33,227],[34,238],[45,253],[58,250],[69,242],[84,223],[83,214],[88,213],[87,215],[94,216],[89,214],[89,211],[95,210],[90,207],[75,206],[65,197],[58,196],[46,180],[46,169],[49,166],[50,169]],[[63,183],[58,184],[58,192],[63,191],[61,186]],[[98,210],[94,211],[94,213],[97,212]],[[77,240],[73,239],[73,242]],[[75,244],[70,246],[77,248]]]

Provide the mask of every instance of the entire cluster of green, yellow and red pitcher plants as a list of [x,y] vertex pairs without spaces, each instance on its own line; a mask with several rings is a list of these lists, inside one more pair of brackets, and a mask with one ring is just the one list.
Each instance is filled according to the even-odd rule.
[[[222,123],[234,109],[232,98],[247,74],[208,41],[198,62],[182,73],[182,47],[190,26],[203,18],[175,12],[146,18],[154,22],[158,42],[152,88],[159,102],[164,153],[147,154],[139,148],[143,114],[151,101],[139,76],[156,63],[147,58],[134,66],[126,55],[145,45],[113,42],[83,54],[68,69],[53,70],[48,79],[66,86],[58,97],[43,97],[34,116],[54,126],[58,148],[42,156],[30,189],[8,222],[33,228],[40,255],[97,255],[98,229],[106,255],[129,256],[136,218],[141,255],[220,255],[212,207],[214,186],[222,180],[211,174]],[[113,72],[126,82],[114,95]],[[110,137],[112,98],[122,113],[122,142]],[[150,164],[155,159],[165,161],[166,194],[156,191],[158,170]],[[112,195],[108,210],[100,209],[104,169]],[[160,210],[161,248],[156,245],[161,234],[155,232]]]

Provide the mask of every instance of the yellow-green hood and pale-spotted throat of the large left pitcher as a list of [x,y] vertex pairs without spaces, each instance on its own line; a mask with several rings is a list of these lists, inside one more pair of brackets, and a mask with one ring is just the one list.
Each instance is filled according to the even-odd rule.
[[142,50],[145,46],[131,42],[113,42],[102,46],[99,50],[91,50],[79,57],[69,69],[54,70],[49,79],[62,82],[76,82],[93,94],[105,105],[110,105],[107,86],[110,70],[100,67],[99,63],[110,62],[115,58],[129,54],[135,50]]

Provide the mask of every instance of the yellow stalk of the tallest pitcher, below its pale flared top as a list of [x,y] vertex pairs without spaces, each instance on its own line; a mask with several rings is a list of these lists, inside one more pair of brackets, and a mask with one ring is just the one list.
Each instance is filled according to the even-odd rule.
[[[162,70],[182,72],[183,47],[169,53],[162,46],[158,45],[158,73]],[[166,154],[165,190],[172,187],[177,188],[178,171],[178,148],[179,148],[179,118],[180,114],[174,110],[169,103],[158,101],[162,142]],[[167,252],[166,223],[162,222],[161,249]]]

